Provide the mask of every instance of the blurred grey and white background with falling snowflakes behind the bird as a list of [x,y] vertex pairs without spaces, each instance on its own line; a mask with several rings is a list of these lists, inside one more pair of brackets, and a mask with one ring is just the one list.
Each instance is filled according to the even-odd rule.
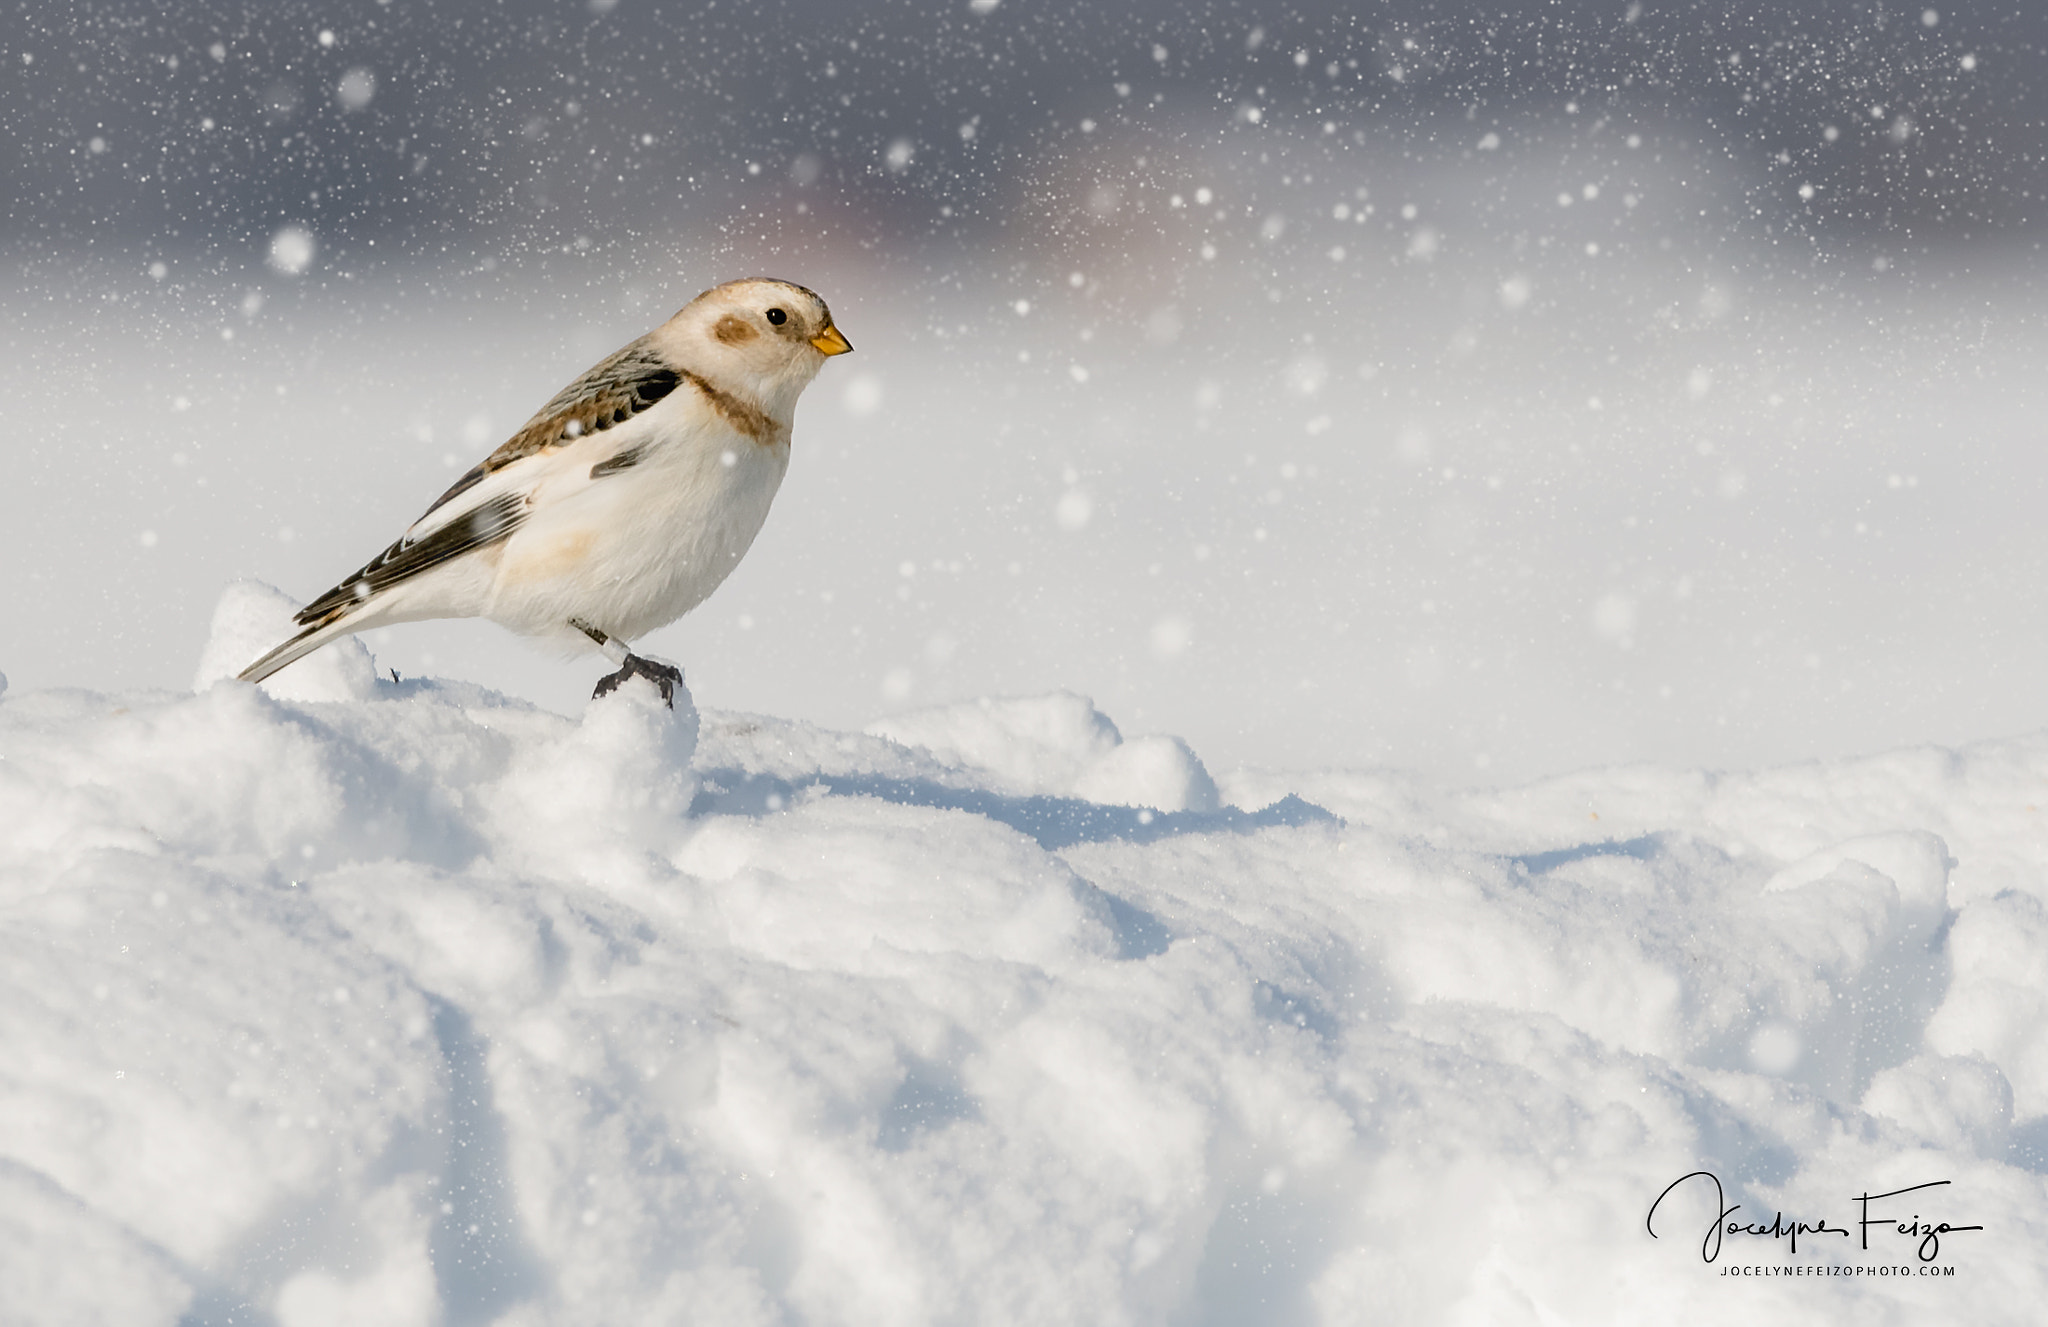
[[[645,645],[1217,766],[1737,766],[2048,719],[2048,18],[1841,4],[0,14],[0,670],[190,680],[698,289],[858,352]],[[489,625],[379,659],[557,709]]]

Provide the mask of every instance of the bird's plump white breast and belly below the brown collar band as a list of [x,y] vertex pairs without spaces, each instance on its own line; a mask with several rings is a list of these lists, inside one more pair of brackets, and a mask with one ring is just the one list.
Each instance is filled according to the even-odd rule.
[[563,639],[575,618],[633,641],[705,602],[754,545],[788,469],[786,440],[717,432],[725,438],[676,440],[631,469],[537,494],[502,547],[483,616]]

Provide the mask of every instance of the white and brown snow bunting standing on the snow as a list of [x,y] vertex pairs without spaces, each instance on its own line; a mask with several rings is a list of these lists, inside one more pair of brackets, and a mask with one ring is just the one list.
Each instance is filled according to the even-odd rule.
[[598,696],[645,676],[670,698],[682,674],[627,641],[696,608],[739,563],[788,469],[797,397],[848,350],[799,285],[705,291],[563,387],[242,680],[371,627],[485,616],[602,649],[618,672]]

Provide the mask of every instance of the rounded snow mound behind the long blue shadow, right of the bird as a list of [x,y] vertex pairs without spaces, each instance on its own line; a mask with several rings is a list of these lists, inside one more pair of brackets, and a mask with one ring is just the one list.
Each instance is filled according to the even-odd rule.
[[1094,700],[1071,692],[973,700],[893,715],[868,733],[965,766],[1016,795],[1112,807],[1214,811],[1217,784],[1180,737],[1124,739]]

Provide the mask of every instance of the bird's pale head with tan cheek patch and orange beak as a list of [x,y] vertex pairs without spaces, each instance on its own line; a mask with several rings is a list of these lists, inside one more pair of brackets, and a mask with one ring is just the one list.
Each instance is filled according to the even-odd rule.
[[852,350],[823,299],[764,276],[705,291],[662,328],[662,340],[680,367],[784,420],[825,360]]

